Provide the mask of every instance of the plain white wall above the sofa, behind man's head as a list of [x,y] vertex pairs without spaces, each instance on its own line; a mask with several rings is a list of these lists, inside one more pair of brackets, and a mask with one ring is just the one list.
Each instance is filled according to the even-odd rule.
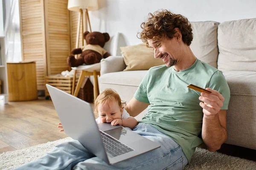
[[189,21],[256,18],[256,0],[99,0],[98,11],[89,11],[92,31],[120,32],[127,45],[141,43],[136,37],[149,12],[169,9]]

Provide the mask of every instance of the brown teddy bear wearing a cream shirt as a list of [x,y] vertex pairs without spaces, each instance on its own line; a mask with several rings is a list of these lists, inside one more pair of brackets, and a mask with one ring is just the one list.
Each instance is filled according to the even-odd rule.
[[[108,33],[100,32],[84,32],[84,39],[87,45],[82,46],[81,48],[75,48],[71,51],[71,54],[67,58],[67,64],[70,67],[77,67],[82,64],[95,64],[100,62],[102,58],[107,58],[110,54],[103,48],[105,42],[108,42],[110,39]],[[74,55],[81,54],[77,59]]]

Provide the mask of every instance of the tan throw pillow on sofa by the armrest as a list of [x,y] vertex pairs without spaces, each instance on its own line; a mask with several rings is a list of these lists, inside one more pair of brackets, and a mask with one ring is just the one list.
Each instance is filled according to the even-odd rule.
[[162,59],[154,58],[153,48],[147,48],[145,44],[120,47],[120,49],[127,65],[124,71],[148,70],[164,64]]

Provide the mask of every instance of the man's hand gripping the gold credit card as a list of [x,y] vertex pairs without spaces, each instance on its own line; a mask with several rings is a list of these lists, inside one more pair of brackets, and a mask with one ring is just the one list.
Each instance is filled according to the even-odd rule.
[[215,90],[211,88],[206,88],[206,90],[211,91],[212,93],[202,92],[199,97],[200,106],[203,108],[204,116],[215,116],[222,108],[224,97]]

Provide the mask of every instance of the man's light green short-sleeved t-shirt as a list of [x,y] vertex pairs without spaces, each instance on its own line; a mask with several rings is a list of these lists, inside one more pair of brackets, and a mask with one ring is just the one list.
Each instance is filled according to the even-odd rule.
[[147,123],[172,137],[180,146],[189,162],[200,138],[203,125],[203,109],[199,105],[200,92],[187,88],[194,84],[212,88],[224,96],[222,110],[227,110],[230,89],[218,69],[196,59],[182,71],[160,65],[148,70],[134,94],[140,102],[150,103],[140,123]]

